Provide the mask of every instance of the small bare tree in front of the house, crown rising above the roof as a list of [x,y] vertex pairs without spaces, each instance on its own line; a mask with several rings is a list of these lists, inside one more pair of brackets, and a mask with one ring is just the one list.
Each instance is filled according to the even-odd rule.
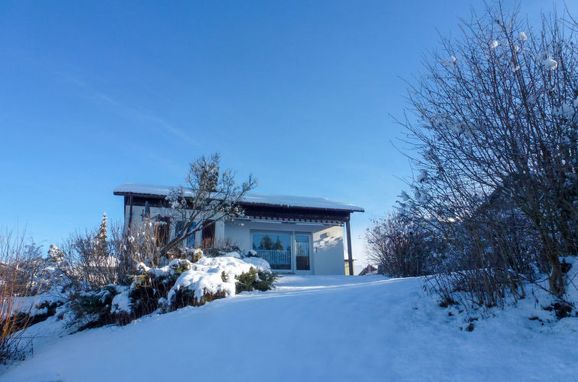
[[189,167],[186,186],[172,190],[167,197],[173,218],[182,221],[183,226],[160,248],[160,256],[178,248],[213,221],[241,215],[239,202],[255,185],[251,176],[238,185],[231,170],[221,169],[218,154],[195,160]]

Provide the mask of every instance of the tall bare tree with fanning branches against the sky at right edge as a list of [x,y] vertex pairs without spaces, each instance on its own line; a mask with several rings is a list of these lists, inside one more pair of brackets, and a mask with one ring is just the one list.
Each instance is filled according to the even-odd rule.
[[407,127],[422,153],[413,211],[443,231],[500,190],[532,224],[560,297],[559,258],[578,252],[575,36],[555,15],[534,31],[501,6],[462,32],[410,92],[419,122]]

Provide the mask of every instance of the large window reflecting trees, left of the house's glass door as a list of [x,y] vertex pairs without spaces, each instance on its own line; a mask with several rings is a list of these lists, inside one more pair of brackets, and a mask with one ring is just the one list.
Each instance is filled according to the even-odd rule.
[[253,250],[267,260],[271,269],[291,270],[291,233],[254,232]]

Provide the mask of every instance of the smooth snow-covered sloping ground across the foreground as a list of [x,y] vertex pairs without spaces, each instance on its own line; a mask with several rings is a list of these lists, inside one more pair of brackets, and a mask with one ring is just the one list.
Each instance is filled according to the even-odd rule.
[[[527,299],[465,327],[420,279],[283,277],[240,294],[125,327],[58,337],[54,319],[34,354],[0,381],[576,381],[578,318]],[[543,313],[542,313],[543,312]]]

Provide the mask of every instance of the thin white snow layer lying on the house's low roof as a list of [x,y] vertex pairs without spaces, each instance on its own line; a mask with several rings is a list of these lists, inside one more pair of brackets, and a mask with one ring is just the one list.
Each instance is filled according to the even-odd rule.
[[[149,186],[140,184],[123,184],[114,189],[115,195],[167,196],[173,187]],[[185,196],[192,196],[192,191],[185,189]],[[349,212],[365,212],[363,208],[351,204],[334,202],[325,198],[290,195],[247,194],[241,200],[242,204],[302,207],[324,210],[339,210]]]

